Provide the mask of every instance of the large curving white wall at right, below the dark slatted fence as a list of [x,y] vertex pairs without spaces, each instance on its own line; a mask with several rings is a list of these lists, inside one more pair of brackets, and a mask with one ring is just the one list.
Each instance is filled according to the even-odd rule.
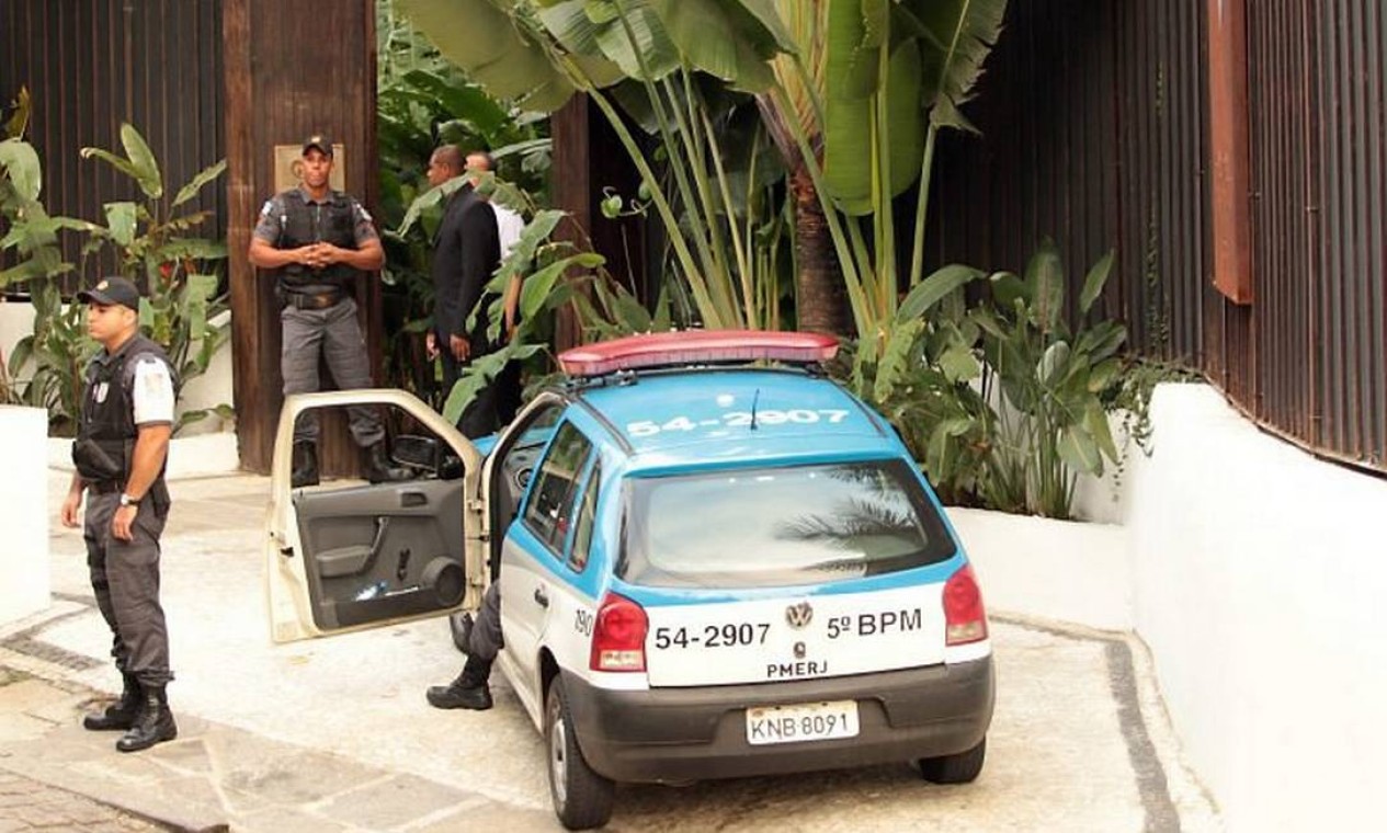
[[1136,460],[1137,632],[1230,830],[1361,829],[1387,773],[1387,481],[1161,385]]

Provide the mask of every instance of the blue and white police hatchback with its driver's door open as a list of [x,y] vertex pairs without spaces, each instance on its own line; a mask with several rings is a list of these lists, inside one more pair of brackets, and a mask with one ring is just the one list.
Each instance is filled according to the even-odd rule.
[[[402,391],[288,398],[273,638],[476,608],[499,581],[497,665],[570,829],[608,821],[614,782],[892,761],[974,780],[978,582],[890,426],[822,373],[835,351],[749,331],[571,349],[485,455]],[[290,489],[294,419],[348,403],[402,412],[393,455],[417,477]]]

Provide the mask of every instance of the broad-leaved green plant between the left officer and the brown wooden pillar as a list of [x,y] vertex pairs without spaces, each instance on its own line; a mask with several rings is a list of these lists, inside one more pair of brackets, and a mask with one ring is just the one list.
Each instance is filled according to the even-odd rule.
[[[227,337],[226,324],[218,323],[226,310],[226,297],[218,294],[219,280],[214,270],[214,263],[226,258],[226,244],[189,234],[211,216],[209,212],[178,212],[226,170],[226,161],[203,169],[172,200],[165,200],[158,161],[140,132],[122,123],[121,144],[123,157],[97,147],[85,147],[80,154],[83,159],[100,159],[135,180],[144,201],[107,202],[105,225],[87,226],[89,245],[114,245],[121,256],[121,272],[132,280],[143,279],[148,291],[140,299],[140,326],[168,352],[176,371],[176,396],[183,385],[207,371]],[[184,412],[175,430],[214,412],[223,419],[233,416],[225,403]]]

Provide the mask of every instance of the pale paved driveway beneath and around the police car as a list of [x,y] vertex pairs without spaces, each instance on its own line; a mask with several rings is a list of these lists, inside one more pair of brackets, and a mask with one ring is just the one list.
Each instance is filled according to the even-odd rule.
[[[65,480],[54,475],[50,493]],[[549,823],[544,754],[519,701],[495,685],[490,712],[441,712],[423,697],[462,657],[441,621],[275,646],[261,597],[266,481],[175,484],[164,597],[176,714],[255,737],[409,773]],[[57,509],[54,502],[51,509]],[[74,683],[114,690],[78,532],[54,524],[58,604],[0,647],[42,656]],[[986,589],[985,589],[986,590]],[[997,710],[988,764],[963,787],[908,765],[807,776],[623,786],[617,830],[1175,830],[1216,829],[1178,747],[1139,642],[994,613]],[[308,773],[305,773],[308,775]],[[362,827],[366,829],[366,827]]]

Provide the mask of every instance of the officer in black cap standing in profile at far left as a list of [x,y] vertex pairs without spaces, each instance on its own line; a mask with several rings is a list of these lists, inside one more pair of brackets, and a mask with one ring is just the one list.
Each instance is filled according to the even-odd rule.
[[115,748],[133,753],[178,736],[165,686],[169,640],[160,606],[160,535],[169,511],[164,484],[173,428],[173,370],[164,349],[140,335],[140,291],[108,277],[78,292],[87,333],[101,349],[86,369],[82,417],[72,444],[76,471],[62,524],[78,525],[86,492],[87,568],[111,626],[111,656],[125,681],[121,700],[82,725],[123,730]]

